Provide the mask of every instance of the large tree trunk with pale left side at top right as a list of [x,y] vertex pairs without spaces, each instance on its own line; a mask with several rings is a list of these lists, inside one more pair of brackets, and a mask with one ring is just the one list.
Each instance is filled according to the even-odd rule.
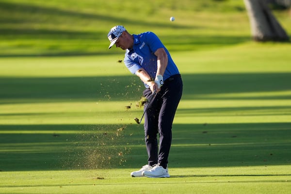
[[265,0],[244,0],[255,41],[289,41]]

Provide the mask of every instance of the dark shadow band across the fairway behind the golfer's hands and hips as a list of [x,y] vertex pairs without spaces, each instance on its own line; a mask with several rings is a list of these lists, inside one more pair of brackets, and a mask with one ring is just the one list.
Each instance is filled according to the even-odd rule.
[[[182,75],[183,100],[190,99],[291,99],[291,95],[218,97],[290,91],[291,73]],[[144,86],[135,76],[69,78],[0,78],[0,103],[136,100]]]

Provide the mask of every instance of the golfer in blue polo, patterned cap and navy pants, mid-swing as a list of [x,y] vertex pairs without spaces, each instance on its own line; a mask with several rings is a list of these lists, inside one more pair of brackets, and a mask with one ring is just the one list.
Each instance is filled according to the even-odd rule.
[[[148,163],[131,177],[170,177],[168,157],[172,142],[172,124],[182,96],[183,83],[177,66],[161,40],[153,32],[129,34],[123,26],[108,33],[109,49],[115,44],[125,50],[124,63],[144,82],[144,96],[154,98],[145,113],[145,141]],[[146,107],[146,105],[145,105]],[[158,148],[157,134],[160,135]]]

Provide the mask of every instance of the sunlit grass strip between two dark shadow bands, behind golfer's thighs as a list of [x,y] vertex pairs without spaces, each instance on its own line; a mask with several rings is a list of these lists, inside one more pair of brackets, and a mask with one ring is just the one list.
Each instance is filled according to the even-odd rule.
[[[254,94],[252,94],[254,96]],[[274,95],[274,94],[273,94]],[[288,93],[288,95],[290,95]],[[261,95],[266,97],[265,95]],[[209,96],[212,97],[212,96]],[[175,123],[289,122],[291,100],[182,100]],[[259,97],[259,96],[256,96]],[[274,97],[274,96],[272,96]],[[279,96],[277,96],[279,97]],[[231,99],[232,98],[232,99]],[[14,124],[132,124],[142,114],[137,101],[49,102],[1,105],[0,123]],[[131,108],[128,109],[127,106]],[[7,131],[6,131],[7,132]]]

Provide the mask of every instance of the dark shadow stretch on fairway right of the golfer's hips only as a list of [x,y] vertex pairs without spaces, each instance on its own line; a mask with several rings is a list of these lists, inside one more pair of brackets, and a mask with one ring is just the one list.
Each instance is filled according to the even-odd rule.
[[[212,94],[290,91],[290,73],[183,75],[183,99],[291,99],[291,96],[211,97]],[[203,96],[206,95],[206,96]],[[208,97],[209,95],[209,97]],[[200,97],[201,96],[201,97]]]

